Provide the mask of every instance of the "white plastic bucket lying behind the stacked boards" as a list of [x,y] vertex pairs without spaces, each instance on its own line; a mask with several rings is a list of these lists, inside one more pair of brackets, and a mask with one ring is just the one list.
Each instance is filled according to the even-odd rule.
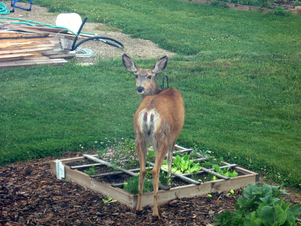
[[57,16],[55,24],[58,27],[66,27],[77,33],[82,25],[82,18],[76,13],[61,13]]

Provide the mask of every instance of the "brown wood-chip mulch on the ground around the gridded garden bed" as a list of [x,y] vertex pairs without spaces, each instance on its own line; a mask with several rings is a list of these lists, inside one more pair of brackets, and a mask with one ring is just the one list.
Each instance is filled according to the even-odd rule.
[[[63,158],[81,156],[66,152]],[[104,203],[102,194],[73,182],[58,180],[50,172],[54,157],[16,162],[0,167],[0,225],[206,225],[213,215],[234,210],[241,190],[234,195],[211,194],[191,199],[174,199],[159,208],[161,220],[153,221],[152,208],[139,215],[118,202]],[[286,201],[300,203],[294,193]]]

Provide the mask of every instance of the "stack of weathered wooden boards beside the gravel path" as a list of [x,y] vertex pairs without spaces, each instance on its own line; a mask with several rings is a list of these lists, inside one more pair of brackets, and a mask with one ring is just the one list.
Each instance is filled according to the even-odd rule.
[[62,29],[0,23],[0,69],[66,64],[73,39]]

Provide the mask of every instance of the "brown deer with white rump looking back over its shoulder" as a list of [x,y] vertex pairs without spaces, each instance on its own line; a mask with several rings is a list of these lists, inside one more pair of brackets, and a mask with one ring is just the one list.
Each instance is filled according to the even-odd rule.
[[136,89],[142,98],[133,120],[135,146],[140,165],[136,213],[142,211],[142,191],[147,173],[145,167],[147,145],[151,144],[155,151],[155,163],[151,172],[154,186],[153,218],[160,220],[157,201],[160,168],[166,158],[169,176],[171,175],[175,142],[184,124],[184,102],[177,89],[160,89],[154,81],[156,73],[165,69],[168,56],[160,58],[151,69],[138,68],[124,53],[122,61],[126,69],[134,73]]

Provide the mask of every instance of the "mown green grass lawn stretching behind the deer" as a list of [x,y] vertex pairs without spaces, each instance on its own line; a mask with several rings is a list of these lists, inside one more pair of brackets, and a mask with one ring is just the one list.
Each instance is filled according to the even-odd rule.
[[[300,16],[169,0],[40,4],[178,53],[158,75],[160,82],[168,75],[185,100],[178,143],[300,187]],[[150,68],[156,59],[135,62]],[[134,136],[141,100],[121,59],[2,70],[0,90],[1,164]]]

